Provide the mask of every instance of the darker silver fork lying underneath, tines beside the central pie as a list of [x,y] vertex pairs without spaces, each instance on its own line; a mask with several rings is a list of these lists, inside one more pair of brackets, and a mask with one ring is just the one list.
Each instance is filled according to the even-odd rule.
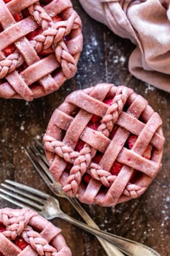
[[[32,162],[32,165],[35,167],[35,170],[40,174],[45,184],[48,185],[49,189],[57,197],[64,197],[71,205],[77,210],[79,215],[86,221],[86,223],[94,229],[99,230],[99,226],[91,219],[91,217],[86,213],[84,208],[81,207],[80,203],[76,198],[68,197],[63,189],[61,189],[61,184],[55,182],[53,176],[50,174],[49,165],[47,158],[45,157],[44,148],[40,142],[35,140],[30,146],[25,150],[26,155]],[[107,253],[107,256],[123,256],[122,253],[112,244],[107,242],[105,239],[101,239],[97,236],[99,243],[102,245],[102,248]]]

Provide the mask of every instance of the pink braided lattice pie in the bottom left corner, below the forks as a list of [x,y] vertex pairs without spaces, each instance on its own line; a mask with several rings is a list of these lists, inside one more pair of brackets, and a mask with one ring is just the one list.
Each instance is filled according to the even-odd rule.
[[1,256],[71,256],[61,229],[28,208],[0,209]]

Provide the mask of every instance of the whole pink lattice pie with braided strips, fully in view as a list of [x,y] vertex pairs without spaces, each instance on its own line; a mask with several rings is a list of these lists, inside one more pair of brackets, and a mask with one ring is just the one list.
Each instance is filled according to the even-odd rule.
[[161,124],[130,88],[77,90],[54,111],[43,138],[50,171],[68,195],[86,204],[138,197],[161,168]]

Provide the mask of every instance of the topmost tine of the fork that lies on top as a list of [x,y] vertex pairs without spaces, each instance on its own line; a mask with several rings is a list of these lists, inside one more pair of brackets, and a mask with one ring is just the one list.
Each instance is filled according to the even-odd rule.
[[28,187],[28,186],[20,184],[18,182],[13,182],[13,181],[11,181],[9,179],[6,179],[5,182],[8,183],[8,184],[13,185],[15,187],[19,187],[20,189],[24,189],[25,191],[27,191],[29,193],[31,192],[32,194],[37,195],[39,197],[43,197],[45,199],[48,199],[48,197],[50,197],[50,195],[48,195],[48,194],[46,194],[46,193],[44,193],[42,191],[39,191],[37,189],[33,189],[33,187]]

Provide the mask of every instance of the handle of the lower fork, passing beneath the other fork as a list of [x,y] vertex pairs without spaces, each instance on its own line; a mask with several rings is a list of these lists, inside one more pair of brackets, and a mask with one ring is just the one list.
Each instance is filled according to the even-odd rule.
[[[68,197],[68,201],[71,202],[71,205],[77,210],[79,215],[86,221],[86,223],[91,226],[94,229],[99,229],[99,226],[92,220],[92,218],[89,216],[88,213],[86,213],[86,210],[81,207],[80,203],[76,198],[74,197]],[[105,239],[102,239],[99,236],[96,236],[99,243],[102,245],[102,248],[107,253],[107,256],[123,256],[122,252],[115,247],[115,245],[111,244],[110,242],[107,242]]]

